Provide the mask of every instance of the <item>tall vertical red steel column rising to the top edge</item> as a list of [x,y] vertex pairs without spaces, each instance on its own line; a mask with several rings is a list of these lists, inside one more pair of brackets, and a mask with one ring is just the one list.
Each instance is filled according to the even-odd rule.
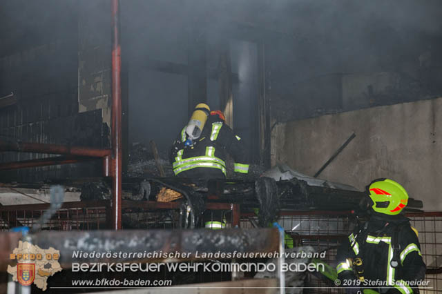
[[122,228],[122,57],[119,46],[119,3],[112,0],[112,228]]

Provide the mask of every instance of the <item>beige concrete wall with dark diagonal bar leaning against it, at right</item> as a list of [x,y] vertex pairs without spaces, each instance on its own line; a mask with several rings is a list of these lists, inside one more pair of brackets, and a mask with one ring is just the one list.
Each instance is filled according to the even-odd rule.
[[356,138],[320,175],[363,190],[378,177],[403,184],[425,210],[442,210],[442,98],[289,121],[273,128],[272,164],[314,175],[352,134]]

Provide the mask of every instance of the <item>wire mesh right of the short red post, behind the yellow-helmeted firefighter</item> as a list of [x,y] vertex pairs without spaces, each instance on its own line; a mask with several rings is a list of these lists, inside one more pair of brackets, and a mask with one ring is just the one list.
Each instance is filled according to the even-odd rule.
[[[408,213],[410,223],[419,231],[423,260],[427,265],[425,280],[428,288],[421,293],[442,293],[442,212]],[[317,252],[326,251],[324,261],[336,266],[337,248],[356,226],[349,212],[336,211],[284,211],[278,224],[294,240],[294,246],[312,246]],[[242,228],[258,226],[258,217],[243,214]],[[331,287],[314,275],[308,275],[305,293],[345,293],[342,288]]]

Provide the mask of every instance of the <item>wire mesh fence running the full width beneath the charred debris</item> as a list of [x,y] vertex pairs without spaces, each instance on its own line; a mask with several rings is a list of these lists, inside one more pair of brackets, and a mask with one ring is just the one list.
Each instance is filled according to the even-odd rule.
[[[32,226],[48,208],[48,204],[0,206],[0,231],[16,226]],[[44,230],[72,231],[108,228],[111,219],[110,206],[106,201],[67,202],[43,226]],[[430,287],[421,293],[442,293],[442,212],[408,213],[411,224],[419,231],[419,242],[425,264],[426,279]],[[123,228],[178,228],[179,202],[123,201]],[[225,221],[227,228],[240,226],[253,228],[258,218],[251,213],[240,214],[238,204],[207,203],[206,213],[196,224],[204,227],[208,220]],[[284,211],[278,224],[294,239],[294,246],[312,246],[318,252],[326,251],[325,262],[336,266],[338,246],[356,225],[349,212],[336,211]],[[342,293],[340,288],[329,288],[316,277],[309,275],[308,293]]]

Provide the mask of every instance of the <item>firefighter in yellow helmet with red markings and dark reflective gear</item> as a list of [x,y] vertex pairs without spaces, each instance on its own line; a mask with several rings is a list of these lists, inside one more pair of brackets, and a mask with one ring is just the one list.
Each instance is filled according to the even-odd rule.
[[400,214],[407,192],[391,179],[376,179],[367,194],[371,217],[355,228],[336,255],[341,286],[347,293],[364,287],[378,293],[418,293],[426,268],[418,233]]

